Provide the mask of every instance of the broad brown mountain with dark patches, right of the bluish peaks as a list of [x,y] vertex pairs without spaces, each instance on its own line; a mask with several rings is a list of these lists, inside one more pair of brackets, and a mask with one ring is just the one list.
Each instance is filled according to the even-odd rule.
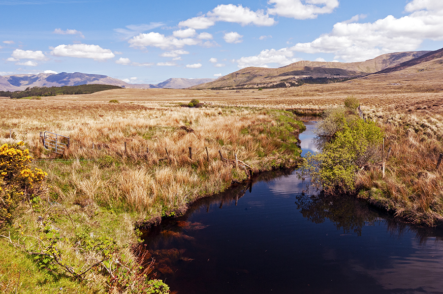
[[311,82],[341,81],[378,72],[387,67],[418,58],[430,51],[398,52],[361,62],[298,61],[279,68],[247,67],[213,82],[190,88],[266,88],[294,86],[302,79]]

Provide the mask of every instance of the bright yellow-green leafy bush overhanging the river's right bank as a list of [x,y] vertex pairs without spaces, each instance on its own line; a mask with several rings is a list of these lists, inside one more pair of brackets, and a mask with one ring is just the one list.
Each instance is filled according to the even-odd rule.
[[307,154],[303,173],[311,176],[317,187],[328,192],[355,190],[355,174],[366,163],[377,159],[383,133],[372,121],[342,116],[340,129],[324,143],[321,153]]

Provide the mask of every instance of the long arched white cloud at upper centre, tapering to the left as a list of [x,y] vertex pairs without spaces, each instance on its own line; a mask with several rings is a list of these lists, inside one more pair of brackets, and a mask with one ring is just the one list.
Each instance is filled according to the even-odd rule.
[[179,23],[179,27],[192,29],[207,29],[215,25],[216,22],[237,23],[242,26],[273,26],[276,21],[269,17],[262,9],[252,11],[241,4],[220,4],[206,15],[190,18]]

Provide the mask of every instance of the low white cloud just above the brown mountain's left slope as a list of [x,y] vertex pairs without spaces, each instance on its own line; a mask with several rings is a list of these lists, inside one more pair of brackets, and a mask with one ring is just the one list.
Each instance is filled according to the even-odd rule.
[[300,61],[301,59],[292,58],[293,52],[288,48],[283,48],[280,50],[263,50],[257,56],[242,57],[241,59],[236,59],[237,66],[239,68],[244,68],[248,66],[259,66],[259,67],[269,67],[268,64],[276,63],[279,66],[285,66],[290,63]]

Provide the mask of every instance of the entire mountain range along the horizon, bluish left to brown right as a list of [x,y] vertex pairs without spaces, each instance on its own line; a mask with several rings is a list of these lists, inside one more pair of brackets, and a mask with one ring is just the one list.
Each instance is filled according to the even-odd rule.
[[[122,88],[286,88],[300,85],[300,81],[330,83],[396,71],[416,70],[417,66],[442,60],[443,48],[436,51],[397,52],[380,55],[361,62],[298,61],[279,68],[247,67],[218,79],[171,78],[156,85],[128,84],[105,75],[85,73],[40,73],[0,76],[0,90],[17,91],[32,87],[61,87],[84,84],[104,84]],[[440,62],[440,61],[439,61]],[[443,63],[440,62],[440,63]],[[440,67],[441,64],[438,64]],[[426,65],[435,67],[437,65]],[[417,70],[426,70],[421,68]],[[297,84],[298,83],[298,84]]]

